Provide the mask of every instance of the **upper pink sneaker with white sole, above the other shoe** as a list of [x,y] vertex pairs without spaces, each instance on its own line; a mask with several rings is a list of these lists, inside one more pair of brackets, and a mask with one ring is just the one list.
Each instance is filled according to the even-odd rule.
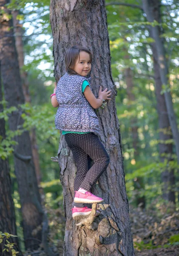
[[75,197],[74,202],[75,203],[100,203],[103,201],[102,198],[97,197],[96,195],[91,194],[90,192],[85,192],[83,194],[82,192],[75,191]]

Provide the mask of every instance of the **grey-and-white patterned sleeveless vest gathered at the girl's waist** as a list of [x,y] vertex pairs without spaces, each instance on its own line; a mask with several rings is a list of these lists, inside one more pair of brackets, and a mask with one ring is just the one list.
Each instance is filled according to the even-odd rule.
[[65,73],[58,81],[56,98],[59,107],[55,116],[56,129],[99,134],[97,115],[82,93],[84,80],[90,84],[91,78]]

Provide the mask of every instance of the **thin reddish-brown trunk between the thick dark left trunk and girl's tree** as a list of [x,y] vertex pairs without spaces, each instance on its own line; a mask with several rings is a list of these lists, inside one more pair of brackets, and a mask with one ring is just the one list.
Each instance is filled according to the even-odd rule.
[[[17,20],[17,15],[19,15],[19,11],[17,10],[13,11],[12,15],[13,15],[15,44],[16,44],[19,67],[20,67],[20,77],[23,85],[23,94],[25,97],[25,102],[31,103],[31,96],[29,92],[29,84],[28,84],[28,78],[27,78],[28,74],[26,71],[22,70],[24,65],[23,29],[22,29],[22,25],[19,24],[19,21]],[[41,172],[40,172],[39,152],[38,152],[35,128],[31,129],[30,131],[30,139],[31,139],[31,150],[32,150],[32,156],[33,156],[33,162],[35,166],[35,173],[37,176],[37,183],[38,185],[40,185]]]

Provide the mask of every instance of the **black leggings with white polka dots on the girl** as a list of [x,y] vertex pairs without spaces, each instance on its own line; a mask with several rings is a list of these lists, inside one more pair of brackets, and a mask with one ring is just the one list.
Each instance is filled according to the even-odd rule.
[[[73,153],[77,166],[74,191],[77,191],[79,188],[90,191],[93,184],[108,166],[108,153],[98,136],[94,133],[68,133],[65,134],[65,140]],[[92,166],[91,160],[94,162]]]

